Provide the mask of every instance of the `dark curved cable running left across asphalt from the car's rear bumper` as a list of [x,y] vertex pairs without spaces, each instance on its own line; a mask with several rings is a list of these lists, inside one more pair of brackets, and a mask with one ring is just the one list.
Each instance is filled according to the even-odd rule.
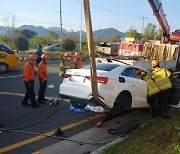
[[35,126],[35,125],[38,125],[42,122],[44,122],[45,120],[49,119],[51,116],[53,116],[57,111],[59,111],[60,109],[63,109],[65,107],[67,107],[69,105],[65,105],[65,106],[62,106],[60,107],[59,109],[55,110],[53,113],[51,113],[50,115],[48,115],[46,118],[44,118],[43,120],[41,121],[38,121],[38,122],[35,122],[34,124],[30,124],[30,125],[27,125],[27,126],[22,126],[22,127],[17,127],[17,128],[7,128],[6,130],[18,130],[18,129],[23,129],[23,128],[28,128],[28,127],[32,127],[32,126]]

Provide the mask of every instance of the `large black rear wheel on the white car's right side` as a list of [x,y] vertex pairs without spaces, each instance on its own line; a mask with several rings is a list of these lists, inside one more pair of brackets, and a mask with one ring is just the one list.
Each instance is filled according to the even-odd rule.
[[131,93],[128,91],[123,91],[116,98],[112,108],[112,112],[120,113],[123,111],[128,111],[131,109],[131,105],[132,105]]

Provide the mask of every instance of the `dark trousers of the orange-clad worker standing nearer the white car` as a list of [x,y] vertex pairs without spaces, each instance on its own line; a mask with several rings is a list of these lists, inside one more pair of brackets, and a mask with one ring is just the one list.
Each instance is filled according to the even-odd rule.
[[38,93],[38,101],[41,102],[44,100],[45,98],[45,91],[46,91],[46,87],[47,87],[47,80],[39,80],[40,83],[40,88],[39,88],[39,93]]

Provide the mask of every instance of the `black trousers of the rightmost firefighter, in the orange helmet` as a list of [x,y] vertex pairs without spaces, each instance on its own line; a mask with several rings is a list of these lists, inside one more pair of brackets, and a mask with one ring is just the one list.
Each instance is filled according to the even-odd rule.
[[171,89],[166,89],[160,92],[159,95],[159,106],[160,106],[160,114],[164,114],[168,112],[168,102],[171,96]]

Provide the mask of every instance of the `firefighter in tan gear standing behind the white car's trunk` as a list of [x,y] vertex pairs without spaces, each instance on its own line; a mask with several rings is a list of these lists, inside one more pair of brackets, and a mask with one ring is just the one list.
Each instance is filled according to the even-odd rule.
[[72,61],[72,55],[70,52],[64,54],[64,59],[60,63],[59,76],[64,76],[67,69],[74,68],[74,63]]

